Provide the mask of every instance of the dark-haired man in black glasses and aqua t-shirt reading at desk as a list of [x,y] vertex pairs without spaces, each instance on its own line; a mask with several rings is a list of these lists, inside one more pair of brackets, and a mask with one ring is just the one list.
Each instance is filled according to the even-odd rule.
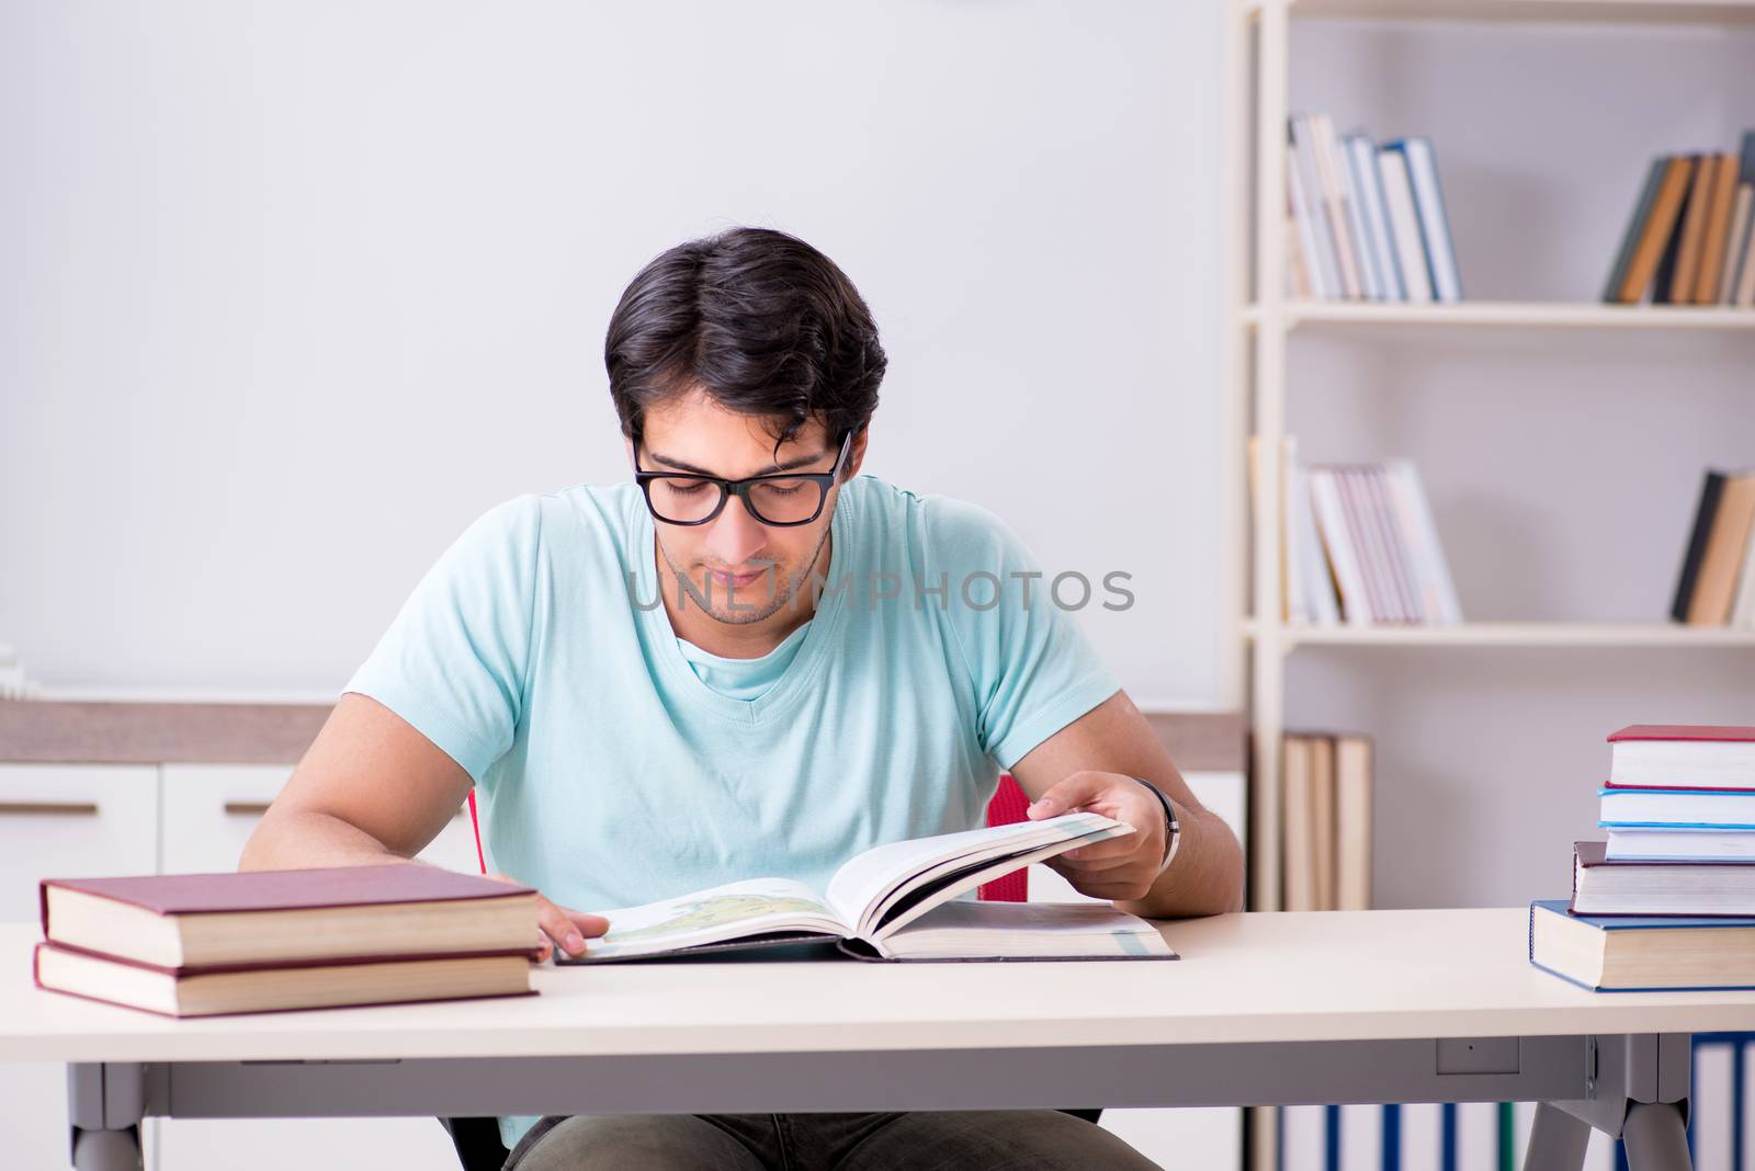
[[[885,352],[821,252],[734,230],[651,261],[609,323],[634,484],[476,521],[347,682],[242,868],[398,861],[474,785],[490,868],[593,910],[1032,817],[1139,833],[1057,859],[1143,915],[1241,903],[1237,840],[981,508],[860,475]],[[1093,501],[1093,507],[1100,501]],[[518,1171],[1150,1166],[1058,1111],[502,1118]]]

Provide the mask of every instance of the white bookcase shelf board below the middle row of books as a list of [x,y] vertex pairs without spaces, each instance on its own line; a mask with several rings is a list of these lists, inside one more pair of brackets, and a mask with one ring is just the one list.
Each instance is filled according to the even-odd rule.
[[[1464,622],[1460,626],[1272,626],[1281,650],[1297,647],[1751,647],[1755,631],[1678,622]],[[1262,640],[1262,626],[1243,624]]]

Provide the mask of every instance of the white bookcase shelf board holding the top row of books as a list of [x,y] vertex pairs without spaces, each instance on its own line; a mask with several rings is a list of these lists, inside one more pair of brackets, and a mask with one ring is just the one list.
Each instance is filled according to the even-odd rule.
[[[1755,310],[1711,305],[1590,305],[1572,302],[1457,302],[1408,305],[1379,302],[1285,302],[1281,321],[1299,326],[1486,326],[1536,330],[1746,330]],[[1260,305],[1243,307],[1243,324],[1264,321]]]

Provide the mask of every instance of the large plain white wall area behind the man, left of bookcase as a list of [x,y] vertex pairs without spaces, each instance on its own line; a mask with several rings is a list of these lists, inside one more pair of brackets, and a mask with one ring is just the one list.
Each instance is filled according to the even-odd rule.
[[623,480],[662,249],[795,231],[1141,701],[1225,631],[1211,4],[0,7],[0,638],[51,689],[339,687],[523,491]]

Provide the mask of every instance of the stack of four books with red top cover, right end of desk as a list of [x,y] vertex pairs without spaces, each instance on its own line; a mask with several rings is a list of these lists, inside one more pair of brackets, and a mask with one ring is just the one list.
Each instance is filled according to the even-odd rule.
[[1755,987],[1755,727],[1609,736],[1608,841],[1572,847],[1572,898],[1530,903],[1530,962],[1587,989]]

